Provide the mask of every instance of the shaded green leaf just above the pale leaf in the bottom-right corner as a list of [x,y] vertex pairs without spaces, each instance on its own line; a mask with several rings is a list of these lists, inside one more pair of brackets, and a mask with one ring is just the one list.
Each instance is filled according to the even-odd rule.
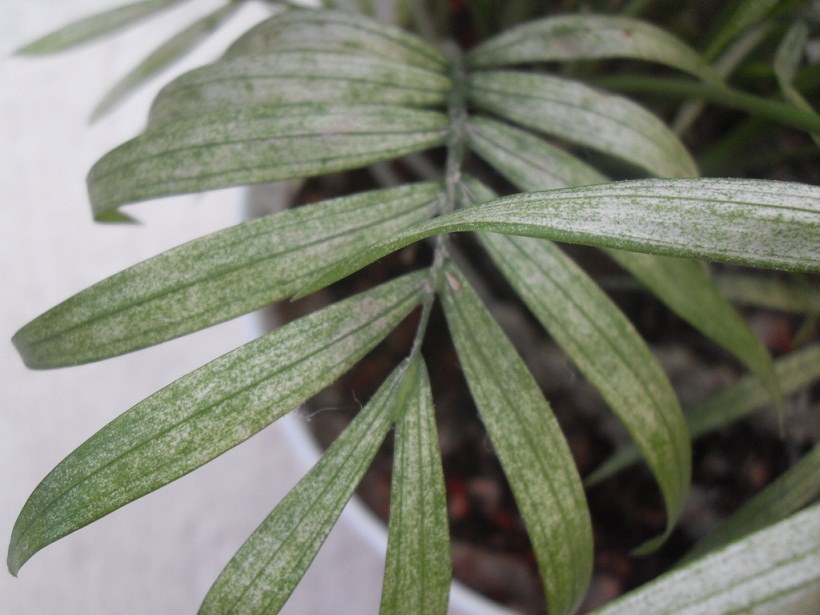
[[820,494],[820,445],[698,541],[679,564],[697,559],[797,512]]

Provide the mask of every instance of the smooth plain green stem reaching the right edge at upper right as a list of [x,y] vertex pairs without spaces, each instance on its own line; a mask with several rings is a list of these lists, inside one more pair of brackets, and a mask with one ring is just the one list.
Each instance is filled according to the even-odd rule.
[[807,132],[820,131],[820,115],[816,113],[730,88],[720,88],[685,79],[634,76],[607,77],[596,80],[596,84],[621,92],[647,92],[662,96],[702,98]]

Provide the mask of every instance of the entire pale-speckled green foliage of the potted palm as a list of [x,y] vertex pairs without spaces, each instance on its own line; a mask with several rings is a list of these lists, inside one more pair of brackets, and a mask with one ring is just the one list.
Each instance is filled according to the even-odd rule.
[[[172,4],[146,1],[116,9],[21,53],[67,48]],[[441,29],[441,15],[427,15],[422,3],[400,4],[399,15],[415,11],[419,32],[433,36]],[[473,290],[471,268],[462,266],[467,257],[450,235],[477,233],[506,283],[629,431],[635,448],[619,452],[593,479],[639,458],[646,461],[666,506],[667,526],[661,536],[636,547],[656,548],[674,529],[689,489],[689,430],[699,435],[767,400],[782,408],[783,394],[818,376],[805,367],[803,355],[775,367],[721,294],[723,283],[716,284],[707,265],[695,259],[820,272],[820,188],[698,179],[693,156],[663,119],[633,100],[583,83],[579,75],[594,75],[601,61],[626,61],[627,70],[635,60],[640,66],[657,64],[684,73],[688,81],[627,73],[612,83],[635,89],[658,85],[661,92],[666,84],[676,94],[707,96],[818,131],[820,117],[795,86],[808,37],[802,22],[787,31],[773,64],[785,102],[723,81],[727,67],[743,53],[725,66],[707,61],[748,36],[774,4],[757,2],[753,14],[732,13],[706,55],[657,25],[620,16],[540,18],[463,54],[455,41],[425,41],[365,16],[372,9],[368,2],[359,3],[365,14],[282,9],[213,64],[168,84],[144,133],[91,169],[88,188],[98,220],[125,220],[120,208],[137,201],[308,178],[431,149],[437,151],[427,164],[438,165],[440,180],[402,179],[399,186],[284,211],[158,255],[21,329],[14,343],[27,365],[77,365],[144,348],[307,295],[428,238],[432,262],[228,353],[101,429],[26,503],[9,548],[11,572],[51,542],[196,469],[296,408],[417,310],[406,360],[236,553],[202,612],[277,611],[393,426],[381,609],[446,612],[451,575],[446,500],[434,400],[421,352],[438,300],[530,535],[550,612],[574,612],[593,562],[583,483],[547,400]],[[97,111],[198,43],[237,5],[227,3],[150,55]],[[476,21],[492,29],[491,20]],[[759,36],[749,40],[756,43]],[[753,46],[744,43],[744,53]],[[555,69],[564,63],[570,63],[569,70]],[[684,104],[680,125],[690,124],[699,110]],[[472,153],[492,170],[471,166]],[[610,181],[618,173],[631,179]],[[488,187],[503,188],[505,182],[513,194],[499,197]],[[734,401],[722,400],[719,411],[696,408],[684,415],[637,331],[553,242],[602,248],[736,356],[754,378],[725,392]],[[801,305],[810,305],[812,296],[804,294]],[[816,306],[804,311],[816,313]],[[811,352],[816,368],[816,349]],[[817,581],[817,565],[807,562],[816,562],[820,552],[820,512],[814,506],[781,520],[816,495],[816,485],[795,489],[805,486],[808,473],[816,475],[816,450],[807,459],[777,487],[778,493],[790,494],[787,503],[761,496],[750,505],[751,513],[712,539],[719,550],[605,612],[660,612],[684,604],[700,612],[766,601],[805,604],[800,601],[811,599],[806,591]],[[725,546],[755,530],[760,531]],[[777,576],[778,567],[789,574]],[[734,585],[712,587],[724,575]],[[746,602],[737,602],[740,594]]]

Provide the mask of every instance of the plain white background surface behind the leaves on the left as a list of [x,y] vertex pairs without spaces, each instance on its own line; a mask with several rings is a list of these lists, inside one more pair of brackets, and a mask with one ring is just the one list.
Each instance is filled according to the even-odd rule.
[[[156,389],[247,339],[235,321],[133,355],[77,368],[27,370],[10,339],[26,322],[103,277],[184,240],[234,223],[241,193],[221,191],[134,207],[139,226],[91,220],[85,175],[103,153],[135,135],[153,81],[99,124],[88,115],[118,77],[181,29],[198,0],[122,36],[39,59],[15,48],[118,0],[0,3],[0,545],[37,483],[105,423]],[[173,72],[213,58],[266,14],[248,6]],[[13,578],[0,570],[0,615],[194,613],[208,587],[298,476],[277,431],[266,430],[180,481],[36,554]],[[319,570],[294,594],[290,613],[375,613],[378,557],[349,549],[334,531]]]

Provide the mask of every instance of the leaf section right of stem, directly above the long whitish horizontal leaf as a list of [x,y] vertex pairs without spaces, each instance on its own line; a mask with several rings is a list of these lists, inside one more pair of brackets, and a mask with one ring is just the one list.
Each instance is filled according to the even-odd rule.
[[522,190],[601,184],[609,179],[532,133],[477,115],[467,122],[470,147]]

